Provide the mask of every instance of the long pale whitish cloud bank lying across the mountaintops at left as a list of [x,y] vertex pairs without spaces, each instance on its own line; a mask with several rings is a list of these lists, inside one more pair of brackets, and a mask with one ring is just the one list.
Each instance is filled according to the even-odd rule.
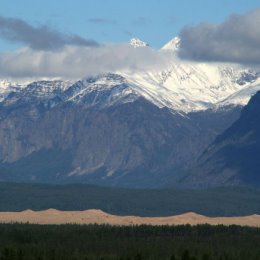
[[167,62],[165,52],[129,44],[65,46],[59,51],[23,48],[0,53],[0,77],[78,79],[118,70],[163,69]]

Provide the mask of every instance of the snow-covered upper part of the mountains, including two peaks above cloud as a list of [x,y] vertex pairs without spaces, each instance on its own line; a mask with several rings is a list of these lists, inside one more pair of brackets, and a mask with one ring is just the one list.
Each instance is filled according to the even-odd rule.
[[[177,55],[180,42],[175,37],[158,51],[168,61],[163,68],[118,70],[78,81],[45,80],[24,85],[0,80],[0,102],[25,102],[31,97],[31,101],[48,106],[51,99],[51,106],[72,102],[109,107],[142,97],[160,108],[189,113],[243,106],[260,90],[259,71],[238,64],[184,61]],[[130,44],[134,48],[149,46],[136,38]]]

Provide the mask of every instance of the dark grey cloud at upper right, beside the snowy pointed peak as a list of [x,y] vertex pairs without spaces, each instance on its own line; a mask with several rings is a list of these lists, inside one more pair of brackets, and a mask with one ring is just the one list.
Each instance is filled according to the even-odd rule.
[[260,64],[260,8],[231,15],[220,24],[201,23],[181,33],[180,57],[198,61]]

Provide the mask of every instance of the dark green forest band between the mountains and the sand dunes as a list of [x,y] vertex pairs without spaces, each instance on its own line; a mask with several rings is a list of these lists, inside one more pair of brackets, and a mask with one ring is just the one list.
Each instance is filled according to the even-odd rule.
[[116,215],[167,216],[193,211],[207,216],[260,214],[260,190],[120,189],[90,185],[0,183],[0,211],[101,209]]

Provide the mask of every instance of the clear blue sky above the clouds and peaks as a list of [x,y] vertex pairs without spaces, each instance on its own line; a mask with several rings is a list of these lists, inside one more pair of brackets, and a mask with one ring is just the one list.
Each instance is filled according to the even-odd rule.
[[[260,7],[259,0],[1,0],[0,16],[47,25],[100,43],[138,37],[159,48],[185,25],[220,23]],[[0,40],[0,50],[20,45]]]

